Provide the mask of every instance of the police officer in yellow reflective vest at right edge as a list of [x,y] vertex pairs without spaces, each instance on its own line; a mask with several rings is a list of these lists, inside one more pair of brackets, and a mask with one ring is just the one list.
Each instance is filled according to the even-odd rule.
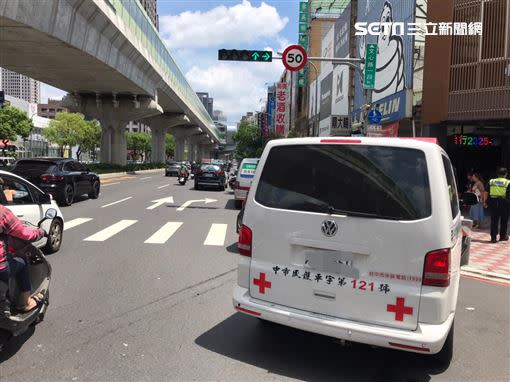
[[508,240],[508,216],[510,215],[510,180],[506,178],[507,170],[501,167],[498,177],[489,181],[489,206],[491,208],[491,243]]

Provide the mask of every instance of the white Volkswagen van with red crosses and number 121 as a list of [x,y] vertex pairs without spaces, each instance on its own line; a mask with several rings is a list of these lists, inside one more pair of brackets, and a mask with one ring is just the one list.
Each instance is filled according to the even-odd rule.
[[461,220],[452,166],[436,144],[270,141],[245,204],[234,307],[449,362]]

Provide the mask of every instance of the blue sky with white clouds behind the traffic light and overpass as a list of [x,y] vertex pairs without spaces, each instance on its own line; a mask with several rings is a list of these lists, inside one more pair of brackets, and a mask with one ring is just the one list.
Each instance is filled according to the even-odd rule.
[[[284,67],[218,61],[218,49],[282,52],[297,41],[299,0],[158,0],[160,34],[196,92],[208,92],[229,122],[260,110]],[[42,101],[64,92],[41,87]]]

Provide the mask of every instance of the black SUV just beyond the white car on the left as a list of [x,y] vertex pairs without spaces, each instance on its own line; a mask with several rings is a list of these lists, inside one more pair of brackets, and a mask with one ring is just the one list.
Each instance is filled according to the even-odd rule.
[[101,187],[99,176],[74,159],[20,159],[12,172],[51,194],[61,206],[70,206],[83,194],[97,199]]

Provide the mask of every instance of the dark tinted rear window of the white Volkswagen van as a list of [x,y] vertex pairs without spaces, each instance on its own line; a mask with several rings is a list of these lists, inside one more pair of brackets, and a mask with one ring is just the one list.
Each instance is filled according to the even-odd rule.
[[424,152],[385,146],[274,147],[255,200],[272,208],[392,220],[431,215]]

